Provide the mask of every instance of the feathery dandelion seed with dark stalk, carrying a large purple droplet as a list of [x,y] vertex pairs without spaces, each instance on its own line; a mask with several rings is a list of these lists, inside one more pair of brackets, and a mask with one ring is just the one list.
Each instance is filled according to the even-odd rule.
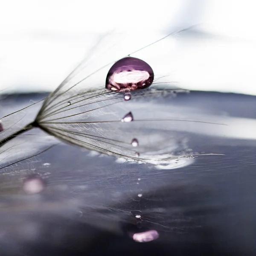
[[[152,44],[156,44],[158,41]],[[169,163],[169,160],[175,157],[169,154],[175,148],[175,143],[169,139],[172,137],[170,136],[170,132],[172,132],[170,122],[172,124],[175,122],[198,122],[220,125],[201,120],[171,118],[173,114],[171,108],[163,107],[153,100],[157,101],[158,96],[167,93],[171,95],[172,90],[139,90],[150,86],[154,79],[153,70],[145,61],[126,57],[114,64],[111,62],[87,73],[86,69],[84,70],[85,63],[83,61],[54,92],[49,94],[34,122],[11,135],[2,136],[0,147],[32,128],[40,128],[59,140],[79,145],[87,150],[115,155],[129,161],[156,165]],[[108,90],[105,88],[91,89],[84,86],[83,82],[93,75],[97,76],[100,71],[111,64],[113,66],[108,72],[105,84]],[[124,103],[124,96],[113,92],[113,89],[116,89],[117,92],[125,92],[125,100],[129,100],[129,102]],[[128,93],[131,90],[134,90],[132,99],[131,97],[128,99]],[[36,103],[32,105],[34,104]],[[123,117],[122,104],[128,106],[130,111]],[[143,110],[143,108],[145,109]],[[19,111],[15,113],[17,112]],[[132,113],[136,113],[135,120]],[[122,122],[128,123],[123,125]],[[144,145],[140,148],[140,153],[132,150],[131,142],[126,140],[128,137],[126,135],[136,136],[137,140]],[[135,144],[132,143],[133,146]]]

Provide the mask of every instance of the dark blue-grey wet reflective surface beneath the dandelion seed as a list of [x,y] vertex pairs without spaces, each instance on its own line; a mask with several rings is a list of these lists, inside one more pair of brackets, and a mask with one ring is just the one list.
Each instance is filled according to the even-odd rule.
[[[8,96],[0,101],[0,116],[42,97]],[[126,137],[131,148],[138,140],[136,151],[142,154],[142,145],[153,147],[160,137],[159,147],[169,143],[173,162],[123,162],[59,143],[39,129],[17,137],[0,154],[1,255],[255,255],[256,98],[191,92],[144,102],[145,111],[140,102],[129,102],[122,116],[131,109],[134,121],[118,124],[134,125],[148,106],[162,121],[109,133],[117,140]],[[3,133],[30,122],[39,107],[3,120],[9,128]],[[174,119],[225,125],[166,123],[165,109],[172,109]],[[57,145],[15,163],[52,144]],[[46,186],[26,195],[23,181],[32,174]],[[159,235],[151,236],[154,241],[133,239],[154,230]]]

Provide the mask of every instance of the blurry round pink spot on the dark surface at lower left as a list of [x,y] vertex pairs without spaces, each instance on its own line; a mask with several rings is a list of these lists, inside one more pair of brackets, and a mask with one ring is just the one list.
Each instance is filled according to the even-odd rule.
[[23,181],[23,191],[26,194],[38,194],[45,188],[45,181],[39,175],[31,175]]

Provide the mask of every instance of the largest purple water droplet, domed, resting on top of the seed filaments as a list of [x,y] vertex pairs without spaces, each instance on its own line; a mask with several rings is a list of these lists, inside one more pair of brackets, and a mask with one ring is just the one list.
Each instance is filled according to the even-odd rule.
[[106,88],[130,92],[149,87],[153,80],[154,72],[145,61],[126,57],[116,61],[108,71]]

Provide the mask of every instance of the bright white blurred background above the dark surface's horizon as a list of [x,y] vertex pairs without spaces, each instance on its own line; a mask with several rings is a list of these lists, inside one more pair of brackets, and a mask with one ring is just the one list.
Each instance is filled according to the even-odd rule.
[[[128,54],[197,25],[200,33],[166,38],[136,56],[184,89],[256,95],[255,7],[252,0],[5,1],[0,9],[0,90],[54,90],[106,32],[113,33],[106,39],[112,48],[99,54],[91,70],[111,56],[122,58],[125,50]],[[129,40],[119,44],[115,33]],[[98,79],[104,85],[105,79]]]

